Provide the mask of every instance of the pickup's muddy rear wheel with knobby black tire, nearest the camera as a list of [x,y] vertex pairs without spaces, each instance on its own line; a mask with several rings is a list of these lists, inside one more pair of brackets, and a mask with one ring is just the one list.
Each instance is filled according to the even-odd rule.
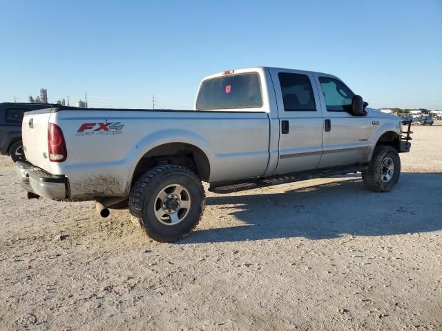
[[[169,198],[173,193],[164,200],[160,198],[160,193],[167,193],[166,190],[169,188],[175,192],[177,187],[183,188],[180,194],[184,194],[184,197],[180,195],[180,199],[175,199],[180,201],[178,207],[173,205],[169,206],[169,209],[177,208],[176,214],[179,215],[181,212],[182,219],[172,224],[172,216],[164,214],[163,219],[157,215],[166,212],[164,205],[170,201],[174,202]],[[174,197],[177,198],[176,195]],[[189,203],[189,208],[181,209],[185,199]],[[140,219],[140,225],[149,237],[156,241],[171,243],[188,236],[198,225],[204,211],[204,203],[204,188],[200,179],[191,170],[180,165],[159,165],[144,173],[135,182],[129,195],[128,208],[134,217]]]

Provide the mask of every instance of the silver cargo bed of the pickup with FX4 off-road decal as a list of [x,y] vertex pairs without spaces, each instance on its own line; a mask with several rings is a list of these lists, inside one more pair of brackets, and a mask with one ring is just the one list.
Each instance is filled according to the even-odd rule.
[[[64,134],[68,158],[62,163],[48,160],[48,123]],[[198,146],[211,160],[210,181],[261,176],[269,134],[268,114],[250,111],[61,107],[28,112],[23,119],[27,159],[66,176],[72,199],[128,194],[138,161],[166,143]]]

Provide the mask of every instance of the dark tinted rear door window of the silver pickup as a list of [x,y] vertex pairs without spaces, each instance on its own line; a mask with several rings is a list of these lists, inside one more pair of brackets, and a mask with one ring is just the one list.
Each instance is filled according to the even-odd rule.
[[285,111],[316,111],[315,97],[306,74],[280,72],[278,77]]

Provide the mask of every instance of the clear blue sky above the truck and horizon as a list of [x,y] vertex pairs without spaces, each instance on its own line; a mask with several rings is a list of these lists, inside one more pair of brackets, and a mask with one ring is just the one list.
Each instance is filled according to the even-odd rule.
[[[374,107],[442,110],[442,0],[0,0],[0,101],[193,106],[249,66],[336,74]],[[99,98],[98,98],[99,97]]]

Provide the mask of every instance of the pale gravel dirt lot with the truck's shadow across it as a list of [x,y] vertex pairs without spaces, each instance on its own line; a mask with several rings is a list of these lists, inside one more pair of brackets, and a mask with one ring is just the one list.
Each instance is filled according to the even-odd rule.
[[26,200],[0,158],[0,330],[442,330],[442,126],[394,192],[359,176],[222,196],[191,237]]

